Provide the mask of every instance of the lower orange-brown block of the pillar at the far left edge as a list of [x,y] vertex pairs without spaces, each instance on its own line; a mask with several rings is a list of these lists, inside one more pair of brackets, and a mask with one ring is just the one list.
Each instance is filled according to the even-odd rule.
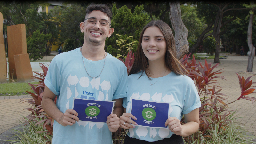
[[0,83],[6,83],[7,65],[4,44],[0,44]]

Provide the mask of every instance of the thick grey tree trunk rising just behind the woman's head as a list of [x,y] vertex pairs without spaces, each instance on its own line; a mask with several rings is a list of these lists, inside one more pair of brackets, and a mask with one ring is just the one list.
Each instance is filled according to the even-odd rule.
[[181,19],[181,10],[180,10],[180,2],[173,1],[169,2],[170,4],[170,15],[169,18],[172,23],[172,28],[175,31],[175,45],[177,51],[177,58],[182,58],[186,53],[188,53],[188,30],[184,25]]

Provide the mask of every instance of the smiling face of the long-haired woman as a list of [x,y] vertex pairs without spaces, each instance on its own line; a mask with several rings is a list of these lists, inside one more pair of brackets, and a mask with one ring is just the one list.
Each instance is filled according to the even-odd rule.
[[148,61],[164,61],[166,41],[157,27],[148,27],[143,34],[141,47]]

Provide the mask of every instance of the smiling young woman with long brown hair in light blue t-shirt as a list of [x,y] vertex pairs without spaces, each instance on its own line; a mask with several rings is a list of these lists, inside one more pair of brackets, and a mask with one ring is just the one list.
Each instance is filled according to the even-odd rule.
[[[149,22],[140,34],[128,74],[127,98],[124,98],[124,114],[120,117],[120,127],[129,129],[124,144],[182,144],[181,136],[198,130],[200,99],[193,80],[184,75],[181,67],[171,28],[160,20]],[[163,125],[169,129],[136,126],[132,119],[137,118],[131,114],[132,98],[168,102],[169,118]],[[181,125],[183,115],[186,123]]]

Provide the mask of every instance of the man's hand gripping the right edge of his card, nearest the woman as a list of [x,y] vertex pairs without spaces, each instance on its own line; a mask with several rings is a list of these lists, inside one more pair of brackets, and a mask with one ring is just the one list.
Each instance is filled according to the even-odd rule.
[[107,117],[107,125],[110,132],[116,132],[119,128],[119,118],[116,114],[110,114]]

